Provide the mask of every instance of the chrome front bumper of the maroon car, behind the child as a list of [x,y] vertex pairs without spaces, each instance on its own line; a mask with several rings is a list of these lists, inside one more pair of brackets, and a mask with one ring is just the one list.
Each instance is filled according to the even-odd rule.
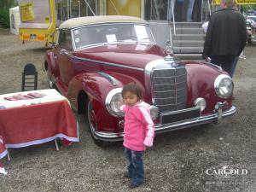
[[[200,116],[193,119],[186,119],[170,124],[156,124],[154,125],[155,134],[160,134],[168,131],[176,131],[184,128],[188,128],[195,125],[203,125],[207,123],[217,123],[219,119],[229,117],[236,113],[236,107],[232,106],[228,110],[223,111],[223,104],[218,102],[215,106],[215,110],[210,115]],[[122,141],[124,137],[124,132],[106,132],[106,131],[94,131],[93,136],[96,139],[106,141],[106,142],[115,142]]]

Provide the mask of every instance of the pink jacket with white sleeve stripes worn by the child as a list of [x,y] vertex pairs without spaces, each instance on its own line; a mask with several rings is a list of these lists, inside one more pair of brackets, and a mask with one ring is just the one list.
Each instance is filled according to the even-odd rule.
[[149,105],[137,102],[134,106],[121,106],[125,112],[124,146],[135,151],[151,147],[154,140],[154,123],[150,117]]

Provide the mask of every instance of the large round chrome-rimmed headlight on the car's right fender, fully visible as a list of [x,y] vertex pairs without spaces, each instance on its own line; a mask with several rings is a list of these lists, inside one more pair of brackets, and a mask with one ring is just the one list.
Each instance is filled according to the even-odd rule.
[[215,79],[214,88],[220,98],[226,99],[233,94],[234,84],[230,76],[221,74]]

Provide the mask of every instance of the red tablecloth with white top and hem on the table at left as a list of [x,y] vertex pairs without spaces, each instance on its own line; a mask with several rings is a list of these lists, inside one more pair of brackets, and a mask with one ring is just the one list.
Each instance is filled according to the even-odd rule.
[[47,96],[37,99],[37,104],[25,101],[25,106],[12,107],[10,104],[16,106],[15,102],[1,103],[6,108],[0,109],[0,159],[7,154],[6,148],[46,143],[57,137],[79,142],[78,124],[67,99],[62,99],[55,90],[42,92],[49,94],[49,99]]

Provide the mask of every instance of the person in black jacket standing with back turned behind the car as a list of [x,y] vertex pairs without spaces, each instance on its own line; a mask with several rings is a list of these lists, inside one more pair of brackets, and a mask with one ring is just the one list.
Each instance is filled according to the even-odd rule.
[[202,57],[222,67],[230,76],[235,57],[241,54],[247,41],[246,22],[241,13],[233,9],[235,0],[221,0],[207,27]]

